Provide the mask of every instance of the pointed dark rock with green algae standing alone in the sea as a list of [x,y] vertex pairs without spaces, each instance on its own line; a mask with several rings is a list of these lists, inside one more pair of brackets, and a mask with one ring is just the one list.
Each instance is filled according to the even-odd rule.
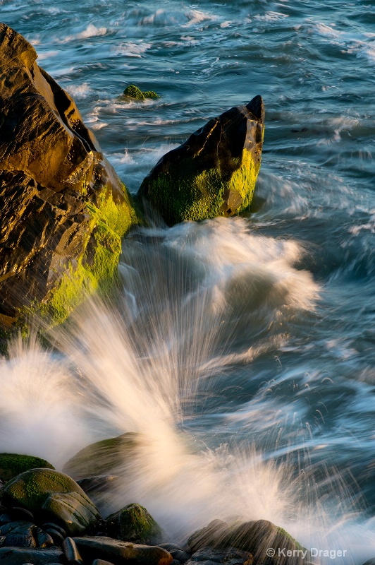
[[261,96],[211,119],[166,153],[140,186],[168,225],[238,214],[250,206],[264,134]]

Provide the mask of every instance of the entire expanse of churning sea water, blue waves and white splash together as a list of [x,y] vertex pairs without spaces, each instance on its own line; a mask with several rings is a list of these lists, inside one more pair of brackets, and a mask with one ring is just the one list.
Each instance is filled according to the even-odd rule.
[[[112,304],[94,298],[53,352],[11,344],[0,451],[62,468],[140,432],[111,508],[139,501],[174,539],[239,515],[347,550],[336,563],[375,557],[374,14],[0,0],[132,192],[210,117],[266,105],[252,214],[132,232]],[[130,83],[161,98],[121,100]]]

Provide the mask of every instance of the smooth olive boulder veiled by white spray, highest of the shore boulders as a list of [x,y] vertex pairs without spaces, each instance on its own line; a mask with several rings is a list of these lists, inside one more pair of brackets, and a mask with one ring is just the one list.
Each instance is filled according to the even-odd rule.
[[136,447],[137,434],[131,432],[96,441],[75,453],[64,465],[63,472],[75,480],[116,472],[123,466],[125,458],[132,456]]

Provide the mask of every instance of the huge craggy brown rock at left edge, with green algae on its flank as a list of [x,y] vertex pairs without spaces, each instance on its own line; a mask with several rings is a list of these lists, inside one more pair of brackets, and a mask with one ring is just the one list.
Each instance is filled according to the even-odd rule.
[[70,96],[0,23],[0,327],[62,321],[111,280],[135,221],[125,186]]

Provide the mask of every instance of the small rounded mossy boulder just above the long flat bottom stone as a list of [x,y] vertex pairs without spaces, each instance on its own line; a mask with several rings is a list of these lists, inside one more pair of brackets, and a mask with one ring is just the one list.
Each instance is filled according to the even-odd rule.
[[151,514],[140,504],[128,504],[106,518],[110,537],[124,542],[156,545],[162,540],[162,530]]

